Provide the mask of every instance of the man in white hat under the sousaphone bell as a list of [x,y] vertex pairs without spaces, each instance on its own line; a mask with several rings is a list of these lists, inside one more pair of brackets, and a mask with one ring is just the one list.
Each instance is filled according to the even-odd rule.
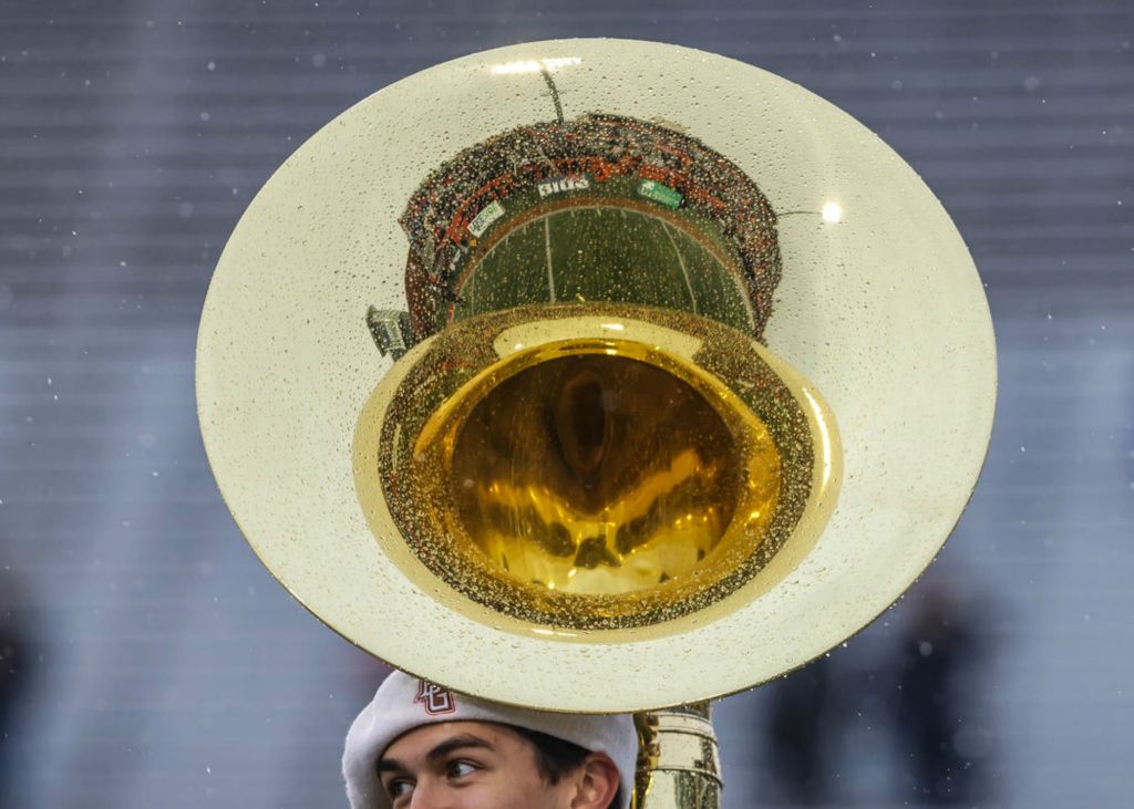
[[393,672],[347,733],[352,809],[629,809],[626,715],[492,702]]

